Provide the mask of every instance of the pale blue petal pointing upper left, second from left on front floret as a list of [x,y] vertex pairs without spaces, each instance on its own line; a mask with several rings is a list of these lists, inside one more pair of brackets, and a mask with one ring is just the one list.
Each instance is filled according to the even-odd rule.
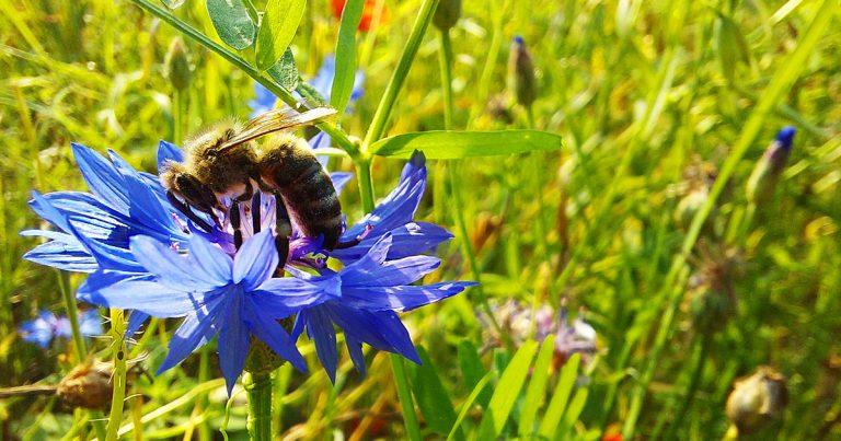
[[181,291],[210,291],[223,287],[230,279],[217,278],[187,256],[175,253],[165,244],[149,236],[131,237],[131,252],[143,268],[155,275],[160,282]]

